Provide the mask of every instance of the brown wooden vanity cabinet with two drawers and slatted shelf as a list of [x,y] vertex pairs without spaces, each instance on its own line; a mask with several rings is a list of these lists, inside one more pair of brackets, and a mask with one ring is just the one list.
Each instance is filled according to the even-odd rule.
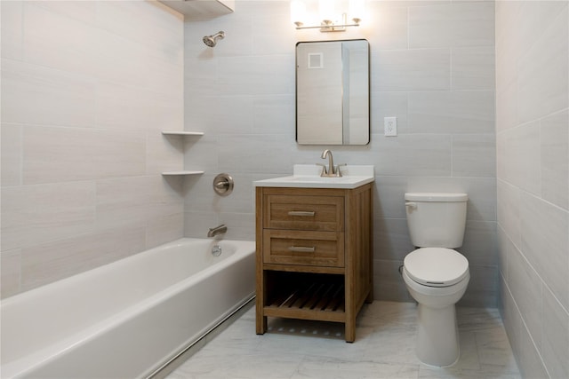
[[373,301],[372,186],[256,188],[257,334],[268,317],[343,322]]

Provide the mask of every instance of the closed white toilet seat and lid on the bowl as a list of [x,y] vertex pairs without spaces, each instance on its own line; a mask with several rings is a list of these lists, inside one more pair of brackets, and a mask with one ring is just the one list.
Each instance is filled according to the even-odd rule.
[[410,279],[428,287],[453,286],[469,275],[468,259],[453,249],[416,249],[403,265]]

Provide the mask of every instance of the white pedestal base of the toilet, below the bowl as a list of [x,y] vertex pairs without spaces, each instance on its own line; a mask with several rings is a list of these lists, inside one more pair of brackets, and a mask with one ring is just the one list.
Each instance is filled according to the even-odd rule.
[[454,304],[444,308],[418,307],[417,357],[430,366],[452,366],[460,357]]

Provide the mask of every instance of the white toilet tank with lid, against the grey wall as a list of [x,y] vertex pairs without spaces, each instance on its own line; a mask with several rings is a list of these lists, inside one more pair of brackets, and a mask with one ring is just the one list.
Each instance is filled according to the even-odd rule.
[[418,248],[459,248],[466,225],[467,193],[405,193],[407,225]]

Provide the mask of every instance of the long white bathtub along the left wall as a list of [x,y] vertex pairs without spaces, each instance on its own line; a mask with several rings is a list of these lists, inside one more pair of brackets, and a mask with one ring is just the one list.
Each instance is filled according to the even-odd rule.
[[254,296],[254,251],[251,241],[183,238],[9,297],[0,375],[150,375]]

